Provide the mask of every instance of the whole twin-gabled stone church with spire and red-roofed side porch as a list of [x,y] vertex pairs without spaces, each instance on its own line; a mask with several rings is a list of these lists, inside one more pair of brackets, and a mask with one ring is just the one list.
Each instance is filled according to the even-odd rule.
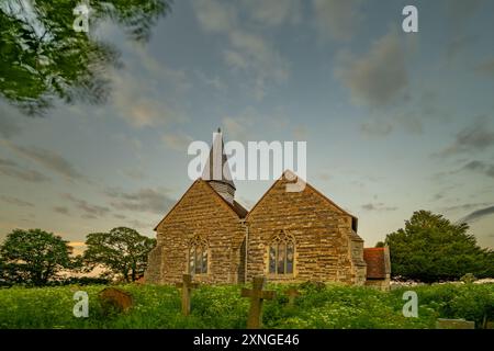
[[[301,192],[287,192],[290,170],[247,211],[235,200],[231,177],[213,179],[212,159],[211,151],[203,177],[156,226],[147,283],[180,282],[190,273],[211,284],[266,275],[271,282],[389,286],[389,251],[363,248],[357,217],[308,183]],[[224,152],[221,160],[228,170]]]

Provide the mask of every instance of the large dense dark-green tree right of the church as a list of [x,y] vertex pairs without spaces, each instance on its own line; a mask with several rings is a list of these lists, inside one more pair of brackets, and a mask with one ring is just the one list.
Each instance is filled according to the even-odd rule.
[[386,236],[394,276],[434,282],[458,280],[467,273],[494,275],[494,252],[476,245],[465,223],[452,224],[442,215],[418,211],[405,228]]

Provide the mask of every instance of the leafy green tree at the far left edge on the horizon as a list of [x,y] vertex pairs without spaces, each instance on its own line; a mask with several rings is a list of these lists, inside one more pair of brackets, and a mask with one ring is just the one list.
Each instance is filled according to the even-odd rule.
[[53,233],[15,229],[0,247],[0,280],[5,284],[46,285],[56,273],[71,268],[72,248]]

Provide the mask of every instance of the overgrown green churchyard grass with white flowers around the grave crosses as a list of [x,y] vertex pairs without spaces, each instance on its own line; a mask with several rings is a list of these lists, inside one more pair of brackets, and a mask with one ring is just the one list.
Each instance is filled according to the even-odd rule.
[[[201,286],[192,293],[191,315],[180,314],[180,292],[168,285],[121,285],[134,306],[127,314],[106,316],[98,293],[103,285],[0,290],[0,328],[245,328],[248,298],[239,285]],[[368,287],[299,285],[293,307],[277,291],[265,303],[265,328],[434,328],[437,318],[465,318],[482,325],[494,320],[494,284],[445,284],[414,287],[418,318],[405,318],[402,299],[406,288],[380,292]],[[89,295],[89,317],[76,318],[74,293]],[[408,288],[409,290],[409,288]]]

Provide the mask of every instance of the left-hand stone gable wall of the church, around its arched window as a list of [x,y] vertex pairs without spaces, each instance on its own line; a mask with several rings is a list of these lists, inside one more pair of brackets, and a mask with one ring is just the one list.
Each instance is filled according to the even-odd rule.
[[[146,281],[175,283],[189,271],[189,247],[199,237],[209,246],[204,283],[237,283],[245,228],[232,207],[205,182],[195,181],[157,226],[157,246],[149,254]],[[243,279],[243,278],[242,278]]]

